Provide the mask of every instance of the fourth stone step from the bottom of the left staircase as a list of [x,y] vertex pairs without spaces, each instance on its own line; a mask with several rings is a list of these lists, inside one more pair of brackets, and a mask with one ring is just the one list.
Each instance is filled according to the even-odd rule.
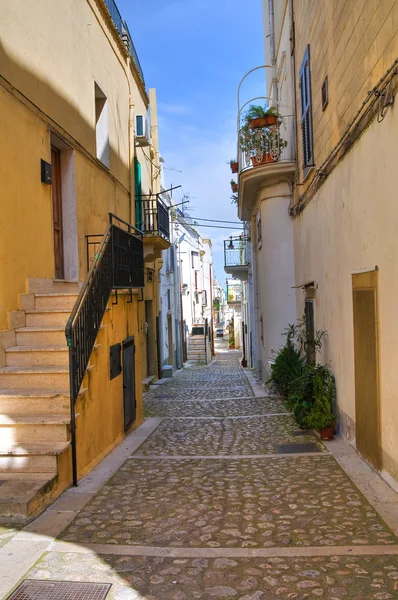
[[[81,390],[81,394],[85,393]],[[0,389],[0,414],[59,414],[69,411],[70,399],[67,389],[41,390],[25,388],[23,390]],[[1,441],[0,441],[1,444]]]

